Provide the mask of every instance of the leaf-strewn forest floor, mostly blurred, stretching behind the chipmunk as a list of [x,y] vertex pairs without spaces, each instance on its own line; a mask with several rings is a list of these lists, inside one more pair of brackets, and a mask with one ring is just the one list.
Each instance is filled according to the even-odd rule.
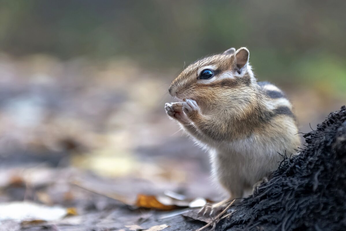
[[[163,224],[179,230],[169,217],[186,203],[138,209],[145,207],[138,196],[220,200],[208,155],[164,111],[164,103],[173,100],[167,87],[179,72],[149,71],[127,59],[94,63],[1,54],[0,230],[136,230],[131,225]],[[345,104],[345,95],[312,84],[273,82],[293,101],[300,132]],[[9,221],[13,208],[7,203],[15,201],[70,209],[45,221],[25,215]],[[157,211],[160,206],[167,211]]]

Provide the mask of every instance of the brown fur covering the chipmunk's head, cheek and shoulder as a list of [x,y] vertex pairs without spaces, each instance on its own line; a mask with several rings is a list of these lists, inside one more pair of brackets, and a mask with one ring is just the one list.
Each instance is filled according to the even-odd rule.
[[[214,80],[199,80],[198,70],[213,65],[216,66]],[[190,116],[201,132],[216,140],[245,138],[277,114],[266,109],[265,101],[270,99],[258,86],[251,67],[238,73],[238,66],[235,53],[213,55],[186,67],[170,84],[173,96],[197,102],[202,113],[191,112]],[[233,77],[218,79],[226,72]]]

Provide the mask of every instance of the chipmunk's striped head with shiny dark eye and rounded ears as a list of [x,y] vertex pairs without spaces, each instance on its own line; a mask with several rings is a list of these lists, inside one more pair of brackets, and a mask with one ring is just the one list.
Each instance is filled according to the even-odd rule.
[[169,93],[182,100],[193,99],[203,108],[226,103],[243,108],[255,97],[256,80],[248,61],[245,47],[200,59],[172,81]]

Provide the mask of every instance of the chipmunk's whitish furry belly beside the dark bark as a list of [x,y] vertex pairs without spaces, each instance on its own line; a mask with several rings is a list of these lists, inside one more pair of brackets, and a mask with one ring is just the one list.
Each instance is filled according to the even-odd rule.
[[[213,176],[231,194],[240,194],[277,169],[285,154],[284,140],[245,140],[218,144],[210,148]],[[287,150],[290,155],[294,150]]]

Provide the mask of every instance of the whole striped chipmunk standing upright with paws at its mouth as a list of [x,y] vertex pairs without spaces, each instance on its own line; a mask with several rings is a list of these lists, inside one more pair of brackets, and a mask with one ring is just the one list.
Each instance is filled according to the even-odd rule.
[[280,154],[299,154],[291,103],[275,85],[257,82],[245,47],[190,64],[169,93],[183,102],[166,103],[167,115],[209,151],[212,175],[229,192],[227,201],[251,195],[278,168]]

